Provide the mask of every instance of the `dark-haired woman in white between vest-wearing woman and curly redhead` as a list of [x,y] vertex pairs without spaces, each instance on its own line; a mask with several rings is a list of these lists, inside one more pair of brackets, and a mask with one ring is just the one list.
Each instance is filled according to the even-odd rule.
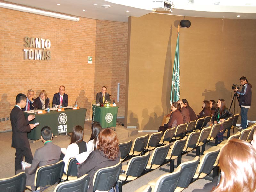
[[98,135],[100,134],[102,128],[99,122],[93,122],[92,123],[92,134],[88,141],[88,152],[91,153],[94,151],[94,149],[97,148],[97,145],[99,144]]

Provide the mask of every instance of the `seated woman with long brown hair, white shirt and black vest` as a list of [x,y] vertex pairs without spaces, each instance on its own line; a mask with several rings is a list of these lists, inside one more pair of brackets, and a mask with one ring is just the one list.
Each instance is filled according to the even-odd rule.
[[[70,158],[76,157],[79,155],[79,163],[83,163],[87,157],[89,156],[87,150],[87,143],[83,140],[84,130],[80,125],[76,125],[73,127],[73,131],[71,133],[70,144],[67,147],[67,150],[62,149],[62,153],[60,156],[60,160],[63,159],[65,163],[64,172],[67,171],[67,165]],[[65,156],[64,156],[65,155]],[[63,157],[64,156],[64,157]]]

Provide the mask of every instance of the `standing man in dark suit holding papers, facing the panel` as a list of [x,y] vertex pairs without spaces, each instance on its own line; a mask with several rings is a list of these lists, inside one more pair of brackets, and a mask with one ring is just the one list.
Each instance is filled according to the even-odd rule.
[[16,148],[15,153],[15,171],[21,169],[21,161],[25,156],[27,163],[32,163],[33,155],[28,142],[27,133],[35,126],[29,124],[29,121],[35,118],[35,115],[29,115],[25,118],[21,108],[26,106],[26,95],[20,93],[16,96],[16,105],[11,111],[10,120],[12,125],[12,147]]

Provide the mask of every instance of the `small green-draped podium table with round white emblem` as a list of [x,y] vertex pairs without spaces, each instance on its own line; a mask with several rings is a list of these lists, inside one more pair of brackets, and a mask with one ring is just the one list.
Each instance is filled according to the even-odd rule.
[[115,127],[118,107],[98,107],[92,106],[93,121],[100,122],[102,128]]

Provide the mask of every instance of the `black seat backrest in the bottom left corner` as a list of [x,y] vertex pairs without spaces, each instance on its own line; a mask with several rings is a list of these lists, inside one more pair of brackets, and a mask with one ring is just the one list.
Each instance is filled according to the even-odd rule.
[[1,192],[23,192],[26,188],[26,173],[21,172],[12,177],[0,179]]

